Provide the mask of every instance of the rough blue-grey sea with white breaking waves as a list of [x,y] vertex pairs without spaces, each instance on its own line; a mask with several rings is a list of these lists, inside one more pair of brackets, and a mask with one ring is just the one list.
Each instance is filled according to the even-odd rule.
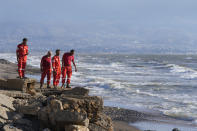
[[[30,54],[28,64],[39,67],[43,55]],[[15,54],[0,58],[16,62]],[[197,55],[76,54],[75,61],[72,85],[90,89],[106,106],[156,111],[197,124]]]

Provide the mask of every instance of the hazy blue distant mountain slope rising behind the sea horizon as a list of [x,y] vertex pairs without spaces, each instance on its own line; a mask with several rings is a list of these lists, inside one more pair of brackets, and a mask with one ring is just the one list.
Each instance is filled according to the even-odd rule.
[[32,51],[70,50],[90,53],[195,53],[196,33],[165,27],[91,24],[0,23],[0,52],[13,52],[23,37]]

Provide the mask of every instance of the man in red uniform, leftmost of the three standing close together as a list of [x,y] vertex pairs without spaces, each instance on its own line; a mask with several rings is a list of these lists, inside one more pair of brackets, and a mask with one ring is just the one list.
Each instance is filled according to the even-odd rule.
[[47,75],[47,88],[50,88],[51,82],[51,51],[48,51],[47,55],[43,56],[40,63],[41,70],[41,79],[40,79],[40,88],[42,88],[44,83],[44,78]]

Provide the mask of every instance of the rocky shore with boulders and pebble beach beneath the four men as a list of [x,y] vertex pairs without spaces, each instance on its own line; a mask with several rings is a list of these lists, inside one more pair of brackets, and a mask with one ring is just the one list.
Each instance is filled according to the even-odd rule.
[[[34,79],[16,79],[17,66],[0,59],[0,131],[140,131],[129,123],[168,119],[118,107],[104,107],[89,90],[39,89]],[[28,66],[28,74],[39,69]]]

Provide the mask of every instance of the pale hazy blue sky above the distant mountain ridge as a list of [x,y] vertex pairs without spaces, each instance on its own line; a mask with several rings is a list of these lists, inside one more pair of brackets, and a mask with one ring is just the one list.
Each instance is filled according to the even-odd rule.
[[197,0],[1,0],[1,22],[197,23]]

